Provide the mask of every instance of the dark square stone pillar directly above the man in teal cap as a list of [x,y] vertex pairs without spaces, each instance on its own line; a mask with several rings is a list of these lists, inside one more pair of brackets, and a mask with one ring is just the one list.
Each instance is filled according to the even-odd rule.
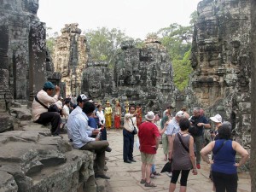
[[32,22],[29,33],[29,101],[31,106],[35,94],[42,90],[46,81],[45,25]]

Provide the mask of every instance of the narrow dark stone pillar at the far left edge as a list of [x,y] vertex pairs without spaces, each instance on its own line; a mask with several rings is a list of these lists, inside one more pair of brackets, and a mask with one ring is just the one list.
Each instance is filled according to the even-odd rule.
[[0,26],[0,112],[7,111],[9,108],[9,30],[8,26]]

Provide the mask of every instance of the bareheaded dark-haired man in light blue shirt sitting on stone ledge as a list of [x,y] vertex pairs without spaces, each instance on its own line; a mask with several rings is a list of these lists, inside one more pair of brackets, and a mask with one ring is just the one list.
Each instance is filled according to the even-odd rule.
[[89,150],[96,153],[95,177],[109,179],[104,174],[105,150],[108,148],[107,141],[99,141],[99,138],[89,137],[86,130],[88,117],[94,112],[95,105],[92,102],[84,102],[83,113],[77,113],[72,122],[67,122],[68,135],[73,140],[73,147],[80,150]]

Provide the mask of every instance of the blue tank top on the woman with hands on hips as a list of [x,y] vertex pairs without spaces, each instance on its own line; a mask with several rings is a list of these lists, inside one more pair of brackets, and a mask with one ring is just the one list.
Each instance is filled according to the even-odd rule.
[[[212,153],[214,154],[212,171],[213,172],[222,172],[225,174],[235,174],[236,173],[236,151],[232,148],[232,141],[227,140],[224,143],[224,139],[218,139],[215,141],[214,148]],[[224,146],[220,146],[224,143]],[[218,150],[218,148],[220,148]],[[218,153],[215,152],[218,150]]]

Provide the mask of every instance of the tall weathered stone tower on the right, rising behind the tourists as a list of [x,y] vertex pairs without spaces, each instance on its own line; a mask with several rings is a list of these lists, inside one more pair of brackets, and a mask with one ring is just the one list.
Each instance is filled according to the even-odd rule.
[[204,0],[197,10],[191,55],[193,94],[209,114],[220,113],[230,120],[236,140],[247,147],[251,141],[250,2]]

